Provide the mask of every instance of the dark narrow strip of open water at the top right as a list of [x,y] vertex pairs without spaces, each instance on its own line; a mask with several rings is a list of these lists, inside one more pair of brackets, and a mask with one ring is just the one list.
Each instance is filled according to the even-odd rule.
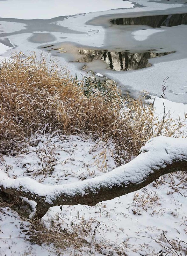
[[111,19],[111,23],[117,25],[147,25],[150,27],[173,27],[181,24],[187,24],[187,13]]

